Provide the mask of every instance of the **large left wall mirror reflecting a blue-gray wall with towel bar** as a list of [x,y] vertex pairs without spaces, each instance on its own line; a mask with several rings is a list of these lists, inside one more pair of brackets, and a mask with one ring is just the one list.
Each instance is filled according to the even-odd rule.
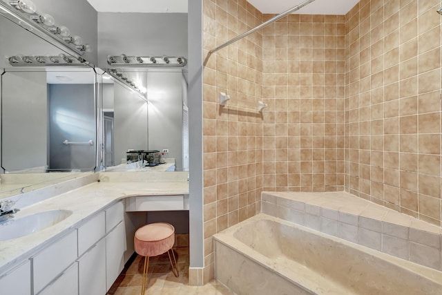
[[0,198],[94,171],[95,70],[1,13],[0,39]]

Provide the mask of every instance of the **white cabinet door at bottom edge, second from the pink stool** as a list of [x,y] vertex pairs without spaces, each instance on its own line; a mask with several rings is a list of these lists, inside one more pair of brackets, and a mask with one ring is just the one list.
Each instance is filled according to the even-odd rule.
[[103,238],[78,260],[79,295],[106,294],[106,239]]

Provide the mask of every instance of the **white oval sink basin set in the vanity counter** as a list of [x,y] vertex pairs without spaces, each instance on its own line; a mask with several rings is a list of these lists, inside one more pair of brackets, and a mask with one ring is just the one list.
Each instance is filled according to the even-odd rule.
[[72,214],[69,210],[50,210],[20,218],[12,218],[0,225],[0,241],[27,236],[65,220]]

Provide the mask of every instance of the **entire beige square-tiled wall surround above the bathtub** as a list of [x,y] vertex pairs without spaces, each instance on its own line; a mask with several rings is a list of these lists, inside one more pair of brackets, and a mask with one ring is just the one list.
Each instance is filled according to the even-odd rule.
[[[262,190],[345,189],[441,225],[441,4],[363,0],[345,16],[290,15],[212,55],[204,281],[211,237],[260,211]],[[245,0],[203,7],[204,56],[273,17]]]

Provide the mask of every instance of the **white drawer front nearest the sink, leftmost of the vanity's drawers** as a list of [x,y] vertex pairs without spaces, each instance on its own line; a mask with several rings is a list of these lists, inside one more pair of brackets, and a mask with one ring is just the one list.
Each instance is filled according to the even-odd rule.
[[77,231],[71,231],[31,259],[34,292],[38,293],[77,259]]

